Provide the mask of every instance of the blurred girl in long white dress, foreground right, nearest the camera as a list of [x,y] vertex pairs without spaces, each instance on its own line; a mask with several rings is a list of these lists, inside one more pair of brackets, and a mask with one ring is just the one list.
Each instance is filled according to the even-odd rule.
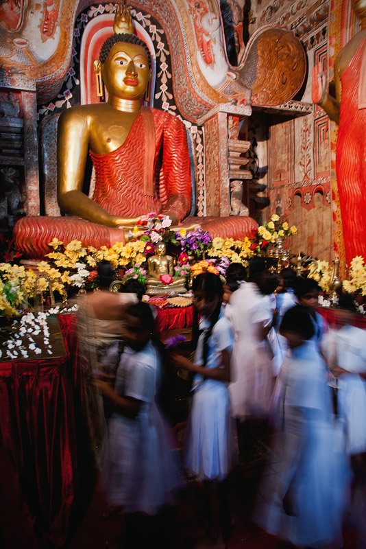
[[280,331],[289,344],[277,382],[280,472],[263,487],[265,504],[256,519],[298,547],[341,547],[347,461],[334,429],[313,320],[297,305],[284,314]]

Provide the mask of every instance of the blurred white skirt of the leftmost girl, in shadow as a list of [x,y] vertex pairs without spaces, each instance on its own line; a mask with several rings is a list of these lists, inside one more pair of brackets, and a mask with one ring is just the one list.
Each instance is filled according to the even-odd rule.
[[176,503],[182,475],[158,408],[129,419],[113,414],[105,465],[108,502],[125,513],[156,515],[162,506]]

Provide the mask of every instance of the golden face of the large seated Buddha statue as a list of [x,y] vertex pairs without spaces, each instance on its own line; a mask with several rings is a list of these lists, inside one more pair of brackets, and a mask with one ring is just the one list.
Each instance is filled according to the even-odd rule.
[[143,97],[151,71],[143,46],[118,42],[101,65],[101,78],[109,95],[121,99]]

